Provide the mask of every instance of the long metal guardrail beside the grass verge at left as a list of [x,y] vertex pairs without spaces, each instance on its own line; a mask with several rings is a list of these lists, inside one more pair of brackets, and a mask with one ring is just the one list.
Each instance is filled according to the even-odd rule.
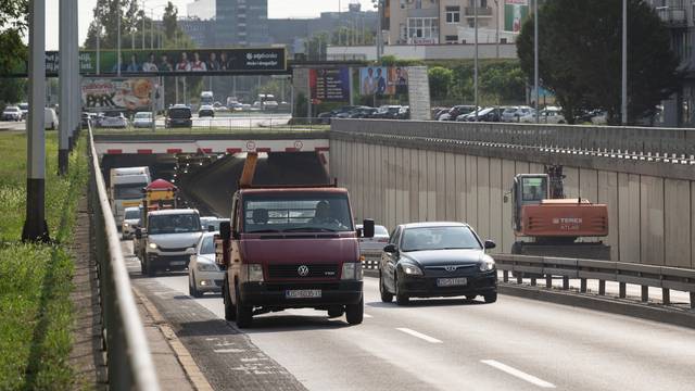
[[89,129],[89,210],[96,244],[109,388],[157,391],[159,380],[121,251],[104,178]]

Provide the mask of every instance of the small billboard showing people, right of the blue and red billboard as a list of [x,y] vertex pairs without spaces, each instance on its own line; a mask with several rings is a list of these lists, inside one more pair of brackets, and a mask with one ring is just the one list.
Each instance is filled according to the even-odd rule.
[[367,66],[359,68],[362,96],[405,94],[408,91],[408,73],[400,66]]

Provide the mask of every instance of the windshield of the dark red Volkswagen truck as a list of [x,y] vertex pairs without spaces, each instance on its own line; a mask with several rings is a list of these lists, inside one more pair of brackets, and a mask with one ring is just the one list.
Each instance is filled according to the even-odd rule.
[[352,231],[346,194],[328,192],[250,194],[243,204],[244,231]]

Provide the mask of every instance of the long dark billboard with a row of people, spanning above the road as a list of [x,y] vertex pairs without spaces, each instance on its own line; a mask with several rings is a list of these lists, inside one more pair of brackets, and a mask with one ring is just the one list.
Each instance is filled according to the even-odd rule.
[[[121,50],[121,74],[127,76],[150,75],[230,75],[230,74],[274,74],[287,72],[285,48],[244,49],[155,49]],[[58,75],[60,55],[56,51],[46,52],[46,73]],[[79,73],[83,75],[115,75],[118,73],[116,50],[79,52]],[[23,64],[13,73],[26,76],[28,64]]]

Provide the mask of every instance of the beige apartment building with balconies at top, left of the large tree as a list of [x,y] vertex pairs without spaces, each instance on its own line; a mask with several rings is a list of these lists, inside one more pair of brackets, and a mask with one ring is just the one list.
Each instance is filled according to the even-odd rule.
[[527,0],[387,0],[387,45],[472,43],[476,11],[479,42],[510,42],[515,31],[505,31],[507,7],[528,14]]

